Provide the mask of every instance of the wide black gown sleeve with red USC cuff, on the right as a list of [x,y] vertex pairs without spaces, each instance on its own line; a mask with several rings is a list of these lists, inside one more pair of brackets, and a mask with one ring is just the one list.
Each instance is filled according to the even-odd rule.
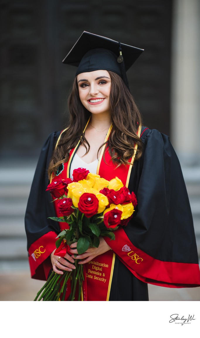
[[150,130],[129,190],[137,196],[135,216],[106,239],[141,281],[165,287],[200,286],[197,245],[189,198],[169,137]]

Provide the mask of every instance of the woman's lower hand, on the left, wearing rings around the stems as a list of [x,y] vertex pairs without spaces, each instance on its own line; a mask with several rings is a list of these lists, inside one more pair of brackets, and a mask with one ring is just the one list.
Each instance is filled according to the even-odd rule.
[[[53,270],[56,273],[63,274],[63,271],[61,271],[61,270],[72,271],[72,269],[75,269],[75,266],[73,264],[71,264],[71,263],[74,263],[75,261],[70,255],[66,254],[64,257],[61,257],[59,259],[59,262],[58,262],[59,256],[54,255],[55,251],[56,251],[56,249],[51,253],[50,257],[51,257],[51,261],[52,261]],[[58,263],[55,265],[56,262],[58,262]],[[59,269],[61,269],[61,270],[59,270]]]

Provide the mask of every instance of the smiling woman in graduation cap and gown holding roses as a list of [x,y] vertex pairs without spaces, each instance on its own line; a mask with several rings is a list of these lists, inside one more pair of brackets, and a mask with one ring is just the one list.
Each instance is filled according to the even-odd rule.
[[[71,271],[79,259],[86,271],[85,300],[148,300],[147,283],[200,285],[192,215],[177,156],[166,135],[141,126],[128,88],[125,71],[141,52],[88,32],[81,35],[64,59],[78,66],[69,97],[70,122],[43,146],[27,205],[32,277],[46,279],[52,268],[57,274]],[[101,237],[98,248],[78,256],[73,243],[62,258],[54,252],[63,225],[47,220],[58,210],[45,190],[49,179],[72,178],[79,167],[107,180],[119,177],[136,194],[138,206],[128,225],[115,231],[114,241]]]

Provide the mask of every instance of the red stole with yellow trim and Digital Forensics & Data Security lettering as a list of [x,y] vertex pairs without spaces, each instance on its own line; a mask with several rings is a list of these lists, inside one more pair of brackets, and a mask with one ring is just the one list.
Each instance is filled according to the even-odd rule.
[[[108,130],[105,142],[108,140],[110,131],[111,131],[111,127]],[[141,127],[139,127],[138,136],[140,136],[140,131],[141,131]],[[59,139],[57,141],[57,144],[59,142]],[[71,149],[69,160],[68,162],[64,163],[63,171],[58,176],[55,176],[53,180],[55,180],[57,177],[62,178],[62,179],[66,179],[67,177],[69,177],[70,164],[71,164],[74,154],[76,153],[76,150],[79,144],[80,144],[80,141],[78,142],[78,144],[76,145],[74,149]],[[106,145],[104,145],[101,150],[99,164],[97,167],[97,174],[107,180],[111,180],[112,178],[118,177],[121,179],[124,186],[128,187],[132,165],[126,165],[126,166],[121,165],[118,168],[116,168],[116,165],[114,165],[111,161],[111,157],[109,155],[108,149],[105,150],[105,147]],[[105,150],[105,162],[103,160],[104,150]],[[133,157],[129,160],[130,164],[133,163],[134,161],[136,150],[137,150],[137,145],[135,146],[135,152],[134,152]],[[56,203],[54,203],[54,206],[55,206],[57,217],[59,217],[60,214],[58,213]],[[59,224],[60,224],[61,230],[66,228],[66,223],[60,222]],[[111,287],[112,275],[113,275],[113,269],[114,269],[114,260],[115,260],[115,254],[112,250],[109,250],[105,252],[103,255],[99,255],[95,257],[93,261],[90,261],[84,264],[85,281],[83,282],[83,287],[82,287],[83,289],[82,300],[88,300],[88,301],[109,300],[110,287]]]

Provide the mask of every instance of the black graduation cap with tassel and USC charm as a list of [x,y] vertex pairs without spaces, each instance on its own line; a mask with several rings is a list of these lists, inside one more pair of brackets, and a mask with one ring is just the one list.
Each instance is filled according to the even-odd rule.
[[128,86],[126,71],[143,49],[125,45],[84,31],[63,63],[78,67],[76,75],[94,70],[109,70],[120,75]]

